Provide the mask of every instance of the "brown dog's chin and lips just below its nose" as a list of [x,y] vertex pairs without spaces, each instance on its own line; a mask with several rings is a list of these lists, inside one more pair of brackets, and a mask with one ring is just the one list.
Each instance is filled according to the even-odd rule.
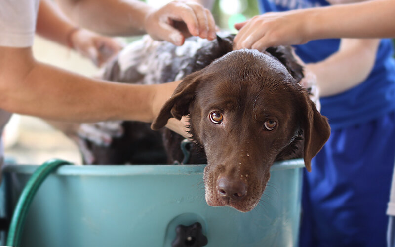
[[249,212],[255,208],[259,203],[259,197],[257,199],[252,199],[251,197],[246,197],[243,200],[233,201],[231,199],[224,200],[219,196],[214,196],[206,189],[206,202],[210,206],[230,206],[235,208],[240,212]]

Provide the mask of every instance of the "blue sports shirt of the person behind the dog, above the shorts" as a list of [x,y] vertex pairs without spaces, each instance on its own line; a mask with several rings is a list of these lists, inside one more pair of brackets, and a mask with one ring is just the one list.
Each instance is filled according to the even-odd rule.
[[[261,12],[326,6],[325,0],[259,0]],[[339,49],[339,39],[310,41],[295,45],[305,63],[319,62]],[[372,72],[366,81],[329,97],[322,97],[321,113],[332,129],[349,127],[373,120],[395,109],[395,62],[391,39],[383,39]]]

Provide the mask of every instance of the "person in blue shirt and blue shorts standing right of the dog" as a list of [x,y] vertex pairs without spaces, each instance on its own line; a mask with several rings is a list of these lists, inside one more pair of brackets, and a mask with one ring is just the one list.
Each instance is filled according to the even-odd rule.
[[[260,0],[262,12],[326,5]],[[249,36],[257,23],[259,18],[237,25],[236,48],[262,48]],[[316,74],[321,113],[332,128],[312,172],[305,172],[300,247],[384,247],[395,157],[392,41],[326,39],[296,45],[295,51]]]

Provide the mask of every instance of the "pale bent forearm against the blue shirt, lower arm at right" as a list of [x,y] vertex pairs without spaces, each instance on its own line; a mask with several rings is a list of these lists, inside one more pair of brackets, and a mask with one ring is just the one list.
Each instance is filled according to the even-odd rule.
[[316,75],[320,96],[344,92],[370,74],[379,40],[343,39],[339,51],[322,62],[307,64]]

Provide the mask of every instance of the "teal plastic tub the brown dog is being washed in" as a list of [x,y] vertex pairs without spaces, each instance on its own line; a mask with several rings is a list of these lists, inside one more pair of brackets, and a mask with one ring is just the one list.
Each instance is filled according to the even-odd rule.
[[[206,204],[204,166],[62,166],[37,192],[21,246],[171,247],[187,229],[177,235],[177,226],[196,222],[207,247],[297,246],[302,159],[275,163],[261,202],[248,213]],[[5,166],[8,208],[37,167]],[[183,245],[198,246],[191,237]]]

